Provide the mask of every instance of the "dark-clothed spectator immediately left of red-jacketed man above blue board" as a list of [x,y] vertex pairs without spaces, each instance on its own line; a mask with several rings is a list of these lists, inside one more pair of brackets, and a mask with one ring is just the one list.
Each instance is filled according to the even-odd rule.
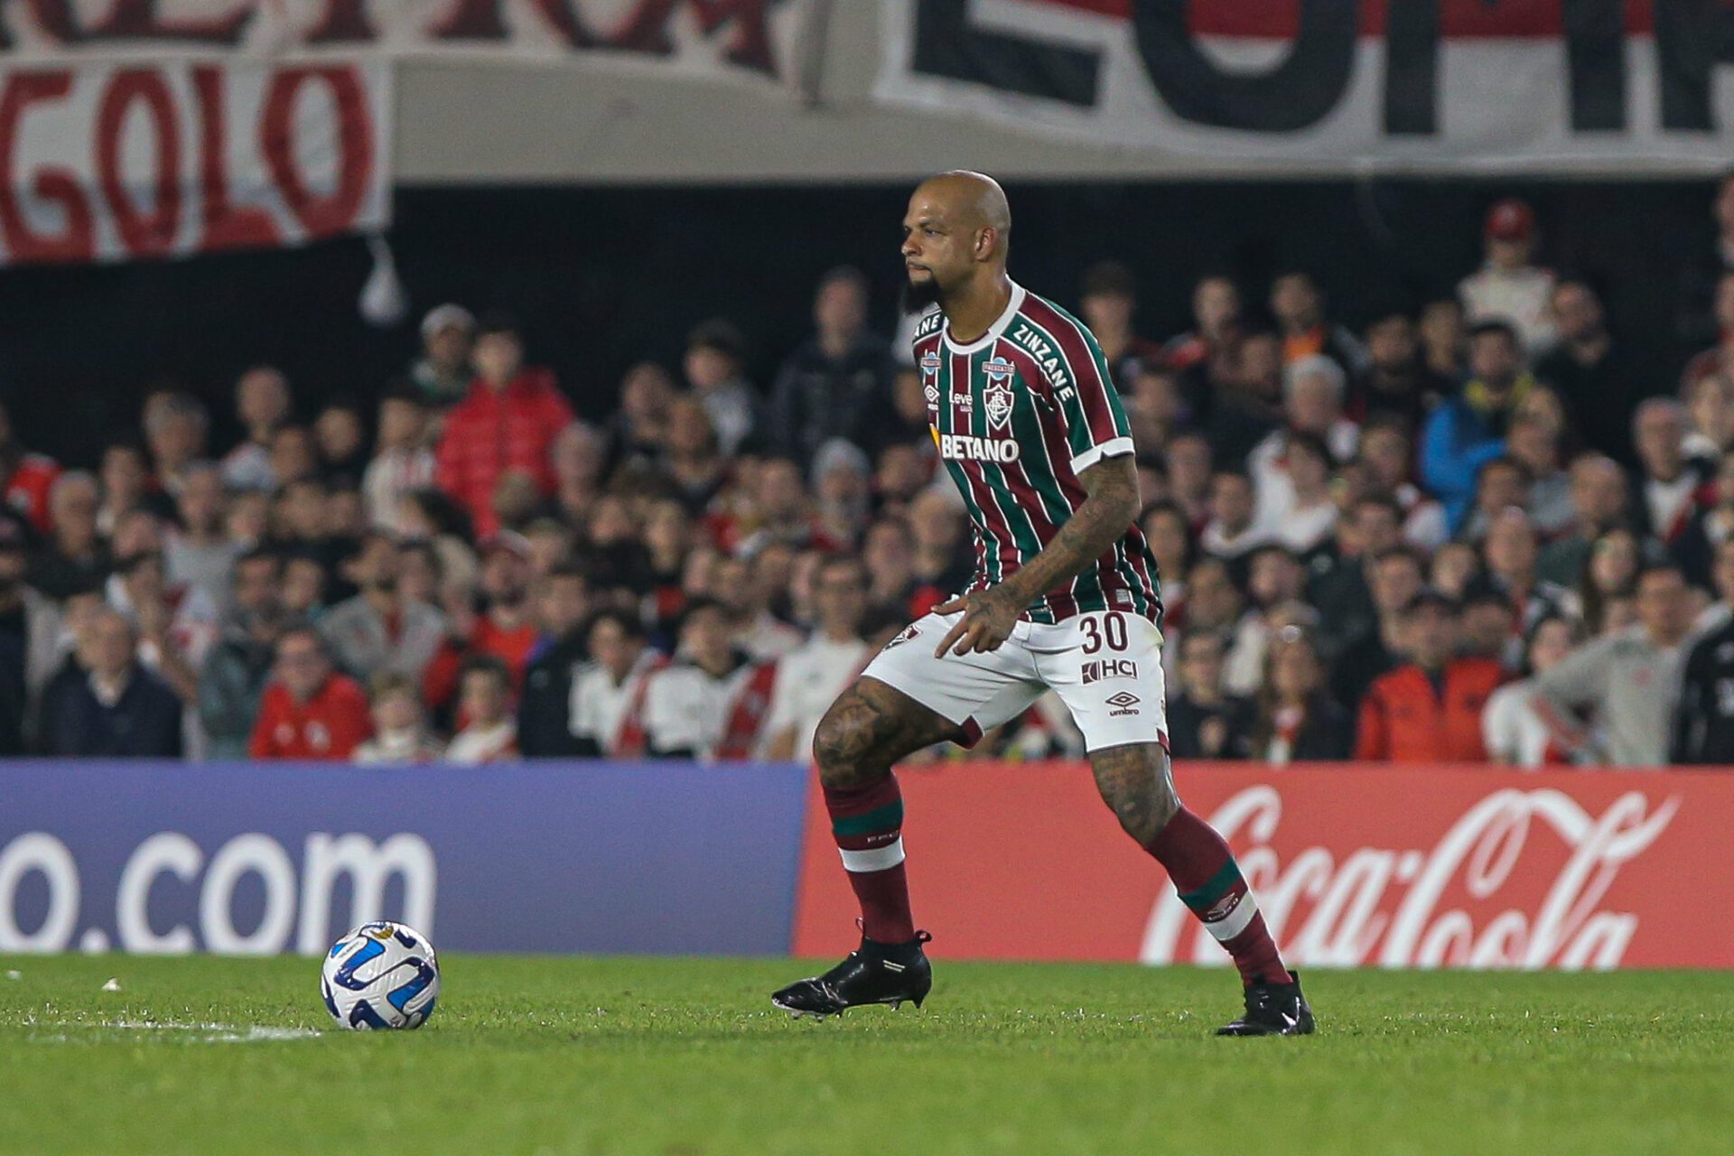
[[198,681],[199,724],[213,759],[246,757],[284,624],[281,572],[281,560],[262,549],[234,563],[222,636],[205,655]]

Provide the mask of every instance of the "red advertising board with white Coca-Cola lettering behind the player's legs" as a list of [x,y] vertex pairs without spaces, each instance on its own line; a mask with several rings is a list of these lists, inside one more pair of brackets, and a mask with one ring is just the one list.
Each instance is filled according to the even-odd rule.
[[[1734,967],[1734,775],[1195,763],[1299,965]],[[916,924],[954,958],[1226,964],[1082,764],[900,773]],[[813,787],[792,950],[855,946]]]

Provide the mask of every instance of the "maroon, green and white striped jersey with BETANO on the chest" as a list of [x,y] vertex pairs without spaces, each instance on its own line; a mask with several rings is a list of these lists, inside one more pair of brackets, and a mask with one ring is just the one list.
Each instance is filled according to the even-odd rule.
[[[1047,546],[1084,503],[1082,470],[1132,452],[1125,411],[1091,331],[1018,284],[981,340],[952,341],[935,310],[916,328],[914,350],[933,440],[975,529],[966,593],[987,589]],[[1131,610],[1160,624],[1157,560],[1136,523],[1023,617],[1051,624],[1091,610]]]

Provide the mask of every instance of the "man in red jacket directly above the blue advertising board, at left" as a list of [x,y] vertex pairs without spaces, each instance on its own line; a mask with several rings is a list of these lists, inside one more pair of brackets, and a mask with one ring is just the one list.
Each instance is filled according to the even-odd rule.
[[331,669],[310,626],[277,638],[277,676],[265,686],[248,754],[255,759],[342,759],[373,735],[368,693]]

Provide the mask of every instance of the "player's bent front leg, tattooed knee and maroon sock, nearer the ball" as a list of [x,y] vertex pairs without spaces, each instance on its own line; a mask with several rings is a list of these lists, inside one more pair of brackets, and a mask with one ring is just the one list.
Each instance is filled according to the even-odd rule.
[[916,939],[903,875],[903,794],[891,766],[962,730],[874,678],[855,679],[813,737],[831,834],[862,905],[862,932],[874,943]]

